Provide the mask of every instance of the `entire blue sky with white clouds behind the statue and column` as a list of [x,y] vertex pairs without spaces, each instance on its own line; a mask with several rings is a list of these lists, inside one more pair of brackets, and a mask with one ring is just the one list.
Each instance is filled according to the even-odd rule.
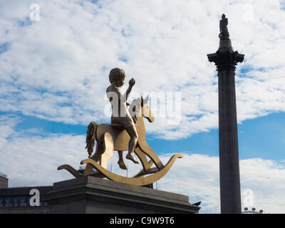
[[56,168],[86,158],[90,121],[110,123],[105,89],[118,67],[126,84],[135,78],[132,98],[182,98],[178,113],[161,109],[145,123],[162,161],[184,155],[157,188],[219,213],[217,72],[207,53],[217,51],[223,13],[245,54],[236,76],[243,206],[285,213],[284,0],[1,0],[0,172],[9,186],[72,178]]

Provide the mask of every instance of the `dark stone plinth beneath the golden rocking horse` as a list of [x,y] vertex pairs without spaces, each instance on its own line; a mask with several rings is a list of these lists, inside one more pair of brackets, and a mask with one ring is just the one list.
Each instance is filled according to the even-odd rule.
[[56,182],[41,199],[52,214],[192,214],[200,209],[186,195],[88,176]]

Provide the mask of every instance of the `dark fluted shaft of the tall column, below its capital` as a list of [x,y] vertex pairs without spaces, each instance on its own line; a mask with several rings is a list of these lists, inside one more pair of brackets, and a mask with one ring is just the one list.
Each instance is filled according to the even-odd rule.
[[241,213],[234,71],[219,71],[219,182],[222,214]]

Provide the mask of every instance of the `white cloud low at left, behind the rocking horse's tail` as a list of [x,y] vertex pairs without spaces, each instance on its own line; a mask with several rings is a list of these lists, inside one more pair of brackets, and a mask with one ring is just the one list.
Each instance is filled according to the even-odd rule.
[[[83,135],[46,134],[45,137],[26,136],[31,130],[17,131],[19,118],[4,115],[0,123],[0,167],[9,177],[9,187],[51,185],[70,179],[71,175],[58,172],[64,162],[78,168],[86,158]],[[32,129],[33,130],[33,129]]]

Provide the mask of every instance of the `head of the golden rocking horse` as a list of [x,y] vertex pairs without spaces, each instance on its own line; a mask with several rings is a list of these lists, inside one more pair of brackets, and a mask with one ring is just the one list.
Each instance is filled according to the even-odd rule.
[[133,100],[129,110],[130,113],[136,117],[144,117],[152,123],[155,121],[155,118],[152,116],[150,105],[148,104],[148,98],[149,96],[147,95],[145,99],[141,97]]

